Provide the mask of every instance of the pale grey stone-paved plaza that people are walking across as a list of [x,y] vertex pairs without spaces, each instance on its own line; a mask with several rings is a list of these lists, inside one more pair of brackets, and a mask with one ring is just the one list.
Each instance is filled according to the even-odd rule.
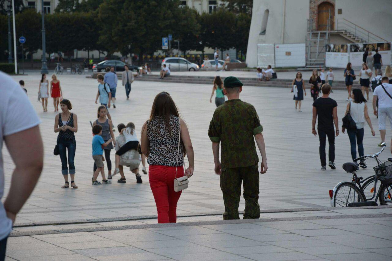
[[[225,73],[222,76],[229,72]],[[231,75],[241,76],[240,73],[243,72]],[[269,169],[260,176],[260,220],[232,224],[222,220],[224,206],[219,176],[214,174],[211,141],[207,136],[215,109],[214,103],[209,103],[212,84],[136,80],[132,84],[131,98],[126,100],[119,81],[117,108],[109,109],[115,126],[132,121],[140,138],[154,96],[167,91],[188,124],[194,146],[195,170],[189,188],[183,191],[178,202],[179,224],[156,225],[156,207],[148,175],[141,173],[143,183],[136,184],[134,174],[128,170],[125,184],[117,183],[119,176],[115,176],[111,185],[91,185],[93,159],[89,121],[96,119],[98,109],[94,103],[98,90],[96,79],[85,75],[58,76],[64,98],[72,102],[72,112],[78,115],[75,182],[79,188],[62,189],[60,158],[53,155],[57,138],[53,132],[56,115],[53,100],[49,98],[49,112],[42,112],[36,95],[38,72],[13,78],[25,81],[29,99],[42,120],[45,159],[38,185],[18,214],[9,238],[9,258],[388,260],[392,257],[392,208],[328,209],[328,190],[339,181],[352,178],[341,168],[343,163],[351,161],[350,142],[347,134],[341,133],[336,138],[337,169],[321,172],[319,140],[311,134],[313,100],[309,91],[302,104],[303,112],[297,112],[289,89],[244,86],[241,99],[254,105],[263,125]],[[331,98],[338,102],[340,128],[347,92],[334,91]],[[377,130],[371,103],[368,107]],[[391,134],[387,125],[387,137]],[[372,137],[365,126],[365,154],[378,152],[379,140],[379,133]],[[3,153],[7,195],[14,166],[6,149]],[[111,155],[114,163],[114,152]],[[390,156],[388,143],[379,158],[386,160]],[[374,165],[375,162],[369,161],[369,169],[360,170],[359,175],[374,174],[371,168]],[[100,179],[98,177],[98,181]],[[245,201],[241,199],[240,210],[244,207]]]

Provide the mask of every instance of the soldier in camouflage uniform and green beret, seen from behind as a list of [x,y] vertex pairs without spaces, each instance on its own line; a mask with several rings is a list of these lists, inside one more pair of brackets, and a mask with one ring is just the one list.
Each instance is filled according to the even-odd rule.
[[236,77],[225,78],[223,90],[229,100],[216,108],[208,130],[214,153],[215,173],[220,175],[220,187],[225,203],[223,219],[240,219],[238,205],[241,197],[241,180],[245,199],[243,218],[260,217],[259,158],[254,138],[262,157],[261,174],[267,172],[267,156],[261,134],[263,126],[253,105],[240,100],[242,85]]

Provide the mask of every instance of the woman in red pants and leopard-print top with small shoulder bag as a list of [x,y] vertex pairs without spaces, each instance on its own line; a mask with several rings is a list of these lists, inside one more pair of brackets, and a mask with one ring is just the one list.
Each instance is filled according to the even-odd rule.
[[188,178],[193,175],[193,147],[187,125],[179,118],[176,104],[167,92],[159,93],[154,99],[150,119],[142,127],[141,147],[150,165],[149,181],[158,210],[158,223],[176,223],[177,201],[181,196],[181,191],[174,191],[176,167],[177,177],[184,176],[186,154],[189,167],[185,175]]

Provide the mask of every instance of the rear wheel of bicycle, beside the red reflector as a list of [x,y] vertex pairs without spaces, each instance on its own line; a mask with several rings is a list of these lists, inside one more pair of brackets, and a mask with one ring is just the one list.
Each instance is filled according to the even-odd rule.
[[359,188],[352,183],[342,183],[336,189],[334,196],[334,207],[348,207],[350,203],[363,202],[363,198]]

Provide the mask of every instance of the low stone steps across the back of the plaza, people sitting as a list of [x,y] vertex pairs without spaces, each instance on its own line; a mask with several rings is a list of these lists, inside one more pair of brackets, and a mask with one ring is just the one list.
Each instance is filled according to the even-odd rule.
[[[291,88],[292,80],[290,79],[273,79],[268,82],[258,82],[257,78],[239,78],[244,86],[260,86],[260,87],[278,87],[278,88]],[[212,85],[214,80],[213,76],[168,76],[164,80],[160,80],[156,75],[143,75],[143,77],[135,77],[137,81],[145,82],[171,82],[171,83],[191,83],[191,84],[209,84]],[[222,80],[224,78],[222,77]],[[305,80],[306,88],[309,89],[308,81]],[[354,87],[359,87],[359,84],[354,83]],[[346,90],[343,81],[335,81],[333,83],[334,90]]]

